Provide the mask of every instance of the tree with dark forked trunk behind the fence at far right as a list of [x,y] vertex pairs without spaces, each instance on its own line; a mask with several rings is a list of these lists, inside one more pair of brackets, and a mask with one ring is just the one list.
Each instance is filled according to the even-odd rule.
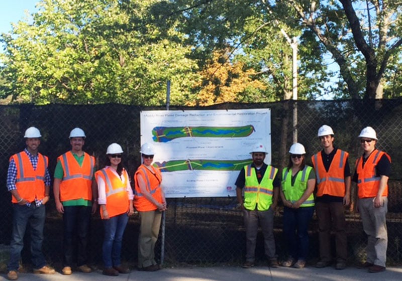
[[[384,75],[402,44],[398,1],[290,0],[301,24],[314,33],[340,67],[352,98],[382,98]],[[357,10],[364,11],[358,13]],[[400,63],[400,58],[399,58]],[[365,77],[365,84],[361,83]]]

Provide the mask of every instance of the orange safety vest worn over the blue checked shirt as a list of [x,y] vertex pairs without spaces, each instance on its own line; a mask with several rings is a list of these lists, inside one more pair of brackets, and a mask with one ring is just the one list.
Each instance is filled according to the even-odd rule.
[[[38,153],[38,164],[36,170],[32,167],[25,151],[10,157],[14,160],[17,167],[16,187],[21,198],[28,202],[33,202],[35,198],[42,200],[45,197],[45,175],[48,167],[48,158]],[[17,199],[12,196],[11,202],[17,203]]]

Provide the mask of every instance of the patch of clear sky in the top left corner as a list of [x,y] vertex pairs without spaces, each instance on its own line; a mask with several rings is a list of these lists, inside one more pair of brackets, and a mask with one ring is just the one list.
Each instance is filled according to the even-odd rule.
[[36,12],[36,3],[39,0],[0,0],[0,34],[11,30],[11,23],[17,23],[25,17],[25,10],[29,14]]

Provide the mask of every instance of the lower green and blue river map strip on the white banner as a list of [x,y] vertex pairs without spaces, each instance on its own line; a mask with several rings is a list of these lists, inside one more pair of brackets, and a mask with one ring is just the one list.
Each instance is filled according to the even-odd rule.
[[185,170],[213,170],[213,171],[240,171],[244,166],[253,162],[245,160],[174,160],[155,162],[154,166],[161,172],[175,172]]

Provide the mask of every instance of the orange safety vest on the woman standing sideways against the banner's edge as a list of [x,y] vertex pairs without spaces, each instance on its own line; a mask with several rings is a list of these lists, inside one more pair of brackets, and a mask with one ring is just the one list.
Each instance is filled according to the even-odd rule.
[[152,167],[152,171],[149,171],[145,165],[141,165],[138,167],[137,172],[134,175],[135,182],[135,196],[134,196],[134,207],[137,211],[146,212],[156,210],[157,207],[154,203],[150,202],[145,196],[141,193],[141,189],[138,185],[137,177],[139,175],[145,181],[147,191],[152,195],[152,197],[159,203],[162,203],[162,190],[160,184],[162,182],[162,174],[159,169]]

